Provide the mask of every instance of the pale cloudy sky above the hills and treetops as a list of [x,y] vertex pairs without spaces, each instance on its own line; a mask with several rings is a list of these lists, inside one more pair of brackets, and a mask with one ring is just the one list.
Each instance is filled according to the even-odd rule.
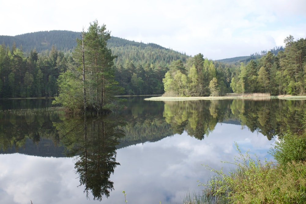
[[1,8],[0,35],[81,32],[97,20],[112,36],[212,60],[306,37],[305,0],[14,0]]

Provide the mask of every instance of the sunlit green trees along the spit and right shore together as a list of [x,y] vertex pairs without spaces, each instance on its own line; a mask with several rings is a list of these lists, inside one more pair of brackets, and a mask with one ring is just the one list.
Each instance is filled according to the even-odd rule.
[[219,96],[225,93],[305,95],[306,39],[284,40],[277,55],[268,51],[239,66],[220,64],[202,54],[174,61],[163,78],[165,96]]

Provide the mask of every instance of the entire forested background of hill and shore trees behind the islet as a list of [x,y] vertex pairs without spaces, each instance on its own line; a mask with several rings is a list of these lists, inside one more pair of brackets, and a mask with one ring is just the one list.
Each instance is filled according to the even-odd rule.
[[[0,98],[54,97],[57,79],[76,66],[72,52],[80,32],[43,31],[0,36]],[[222,95],[265,92],[305,94],[305,39],[284,40],[250,56],[212,61],[154,43],[111,37],[107,47],[117,56],[114,76],[127,95]],[[178,72],[179,71],[179,72]]]

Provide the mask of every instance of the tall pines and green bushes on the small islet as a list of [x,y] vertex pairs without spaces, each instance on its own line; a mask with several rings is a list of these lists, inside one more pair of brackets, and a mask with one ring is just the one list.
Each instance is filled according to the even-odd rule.
[[[77,39],[73,53],[79,64],[62,73],[54,103],[61,103],[72,111],[88,108],[98,112],[117,105],[114,94],[122,88],[114,81],[112,66],[116,56],[106,47],[108,39],[110,32],[104,24],[99,26],[97,20],[90,23],[88,32],[83,32],[81,39]],[[67,93],[71,88],[74,96]]]

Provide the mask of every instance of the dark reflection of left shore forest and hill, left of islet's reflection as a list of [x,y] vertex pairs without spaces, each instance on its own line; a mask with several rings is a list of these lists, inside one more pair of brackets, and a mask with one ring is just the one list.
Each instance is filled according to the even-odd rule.
[[0,153],[62,157],[58,134],[52,121],[58,115],[0,113]]

